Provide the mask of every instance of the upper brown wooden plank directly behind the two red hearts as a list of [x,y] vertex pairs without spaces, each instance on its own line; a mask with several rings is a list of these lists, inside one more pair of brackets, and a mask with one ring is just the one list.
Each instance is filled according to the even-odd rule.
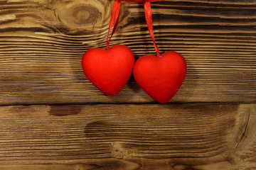
[[[256,1],[151,3],[161,52],[186,58],[173,102],[256,101]],[[105,47],[112,1],[0,0],[0,104],[154,102],[131,78],[108,97],[82,73],[82,54]],[[154,54],[142,4],[122,2],[112,45]]]

